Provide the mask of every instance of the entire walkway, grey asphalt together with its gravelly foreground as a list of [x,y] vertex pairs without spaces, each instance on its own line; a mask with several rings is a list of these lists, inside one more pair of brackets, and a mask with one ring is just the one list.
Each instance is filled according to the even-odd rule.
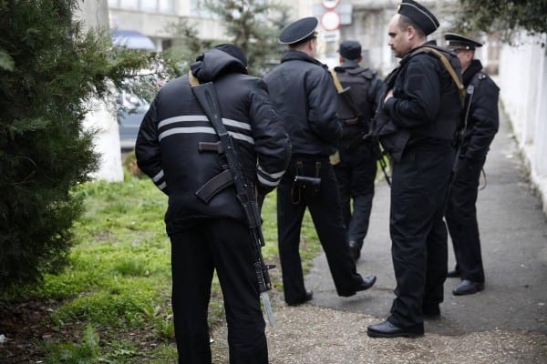
[[[325,256],[305,277],[310,304],[288,307],[271,291],[274,327],[266,336],[271,364],[543,364],[547,362],[547,222],[533,196],[503,120],[486,165],[479,218],[486,289],[454,297],[445,285],[442,317],[417,339],[372,339],[366,327],[387,317],[395,279],[388,234],[389,189],[377,185],[370,231],[357,269],[377,274],[375,287],[339,298]],[[453,253],[450,243],[450,267]],[[228,362],[225,325],[213,333],[213,363]]]

